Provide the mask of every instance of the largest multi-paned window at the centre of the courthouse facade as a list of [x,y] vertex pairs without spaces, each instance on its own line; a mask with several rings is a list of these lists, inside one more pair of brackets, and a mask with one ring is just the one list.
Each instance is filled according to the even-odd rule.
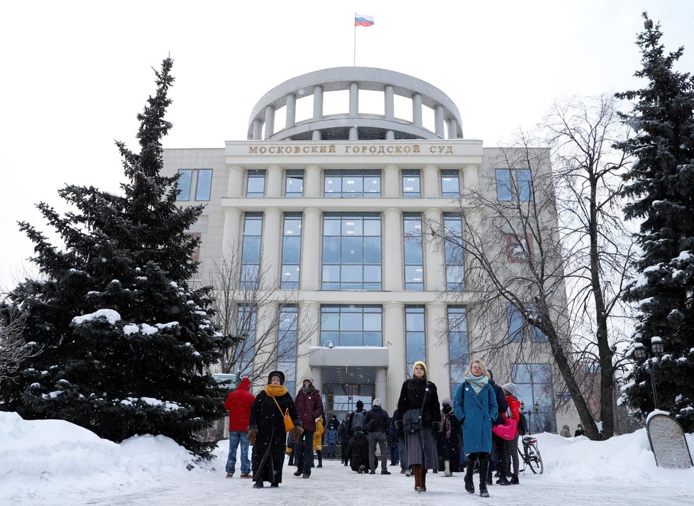
[[381,289],[380,214],[323,216],[323,290]]

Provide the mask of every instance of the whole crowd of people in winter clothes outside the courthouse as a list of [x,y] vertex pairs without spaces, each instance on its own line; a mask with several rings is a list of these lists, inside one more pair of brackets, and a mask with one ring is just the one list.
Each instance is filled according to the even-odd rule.
[[[472,361],[453,400],[439,402],[436,385],[426,376],[426,364],[414,363],[412,378],[402,384],[397,409],[392,417],[378,398],[365,409],[361,400],[343,419],[333,414],[326,420],[321,394],[310,377],[302,380],[295,397],[284,386],[285,375],[272,371],[268,385],[258,395],[250,393],[243,378],[228,395],[229,453],[226,476],[236,472],[236,453],[241,445],[241,478],[264,483],[282,483],[285,454],[294,476],[311,478],[312,469],[326,457],[336,458],[340,445],[341,463],[360,474],[390,475],[388,457],[400,473],[414,475],[414,490],[426,492],[429,472],[452,476],[465,472],[464,488],[475,493],[475,473],[481,497],[489,497],[488,485],[517,485],[517,429],[500,427],[520,422],[520,402],[514,383],[499,386],[482,361]],[[494,429],[492,429],[492,427]],[[577,431],[578,432],[578,431]],[[500,434],[500,435],[497,435]],[[251,458],[248,448],[253,447]],[[378,452],[377,452],[378,446]],[[315,465],[317,461],[317,465]]]

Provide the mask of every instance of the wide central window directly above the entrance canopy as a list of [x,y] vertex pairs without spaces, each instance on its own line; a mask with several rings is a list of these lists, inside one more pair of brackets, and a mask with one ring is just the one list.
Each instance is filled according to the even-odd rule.
[[321,346],[383,346],[380,306],[321,306]]

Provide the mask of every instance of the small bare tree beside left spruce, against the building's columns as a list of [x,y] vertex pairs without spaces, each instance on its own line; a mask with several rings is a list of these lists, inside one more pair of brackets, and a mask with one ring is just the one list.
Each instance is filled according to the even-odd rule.
[[211,268],[214,321],[228,336],[216,372],[253,383],[278,364],[295,363],[318,328],[304,318],[297,290],[283,290],[267,269],[242,265],[235,251]]

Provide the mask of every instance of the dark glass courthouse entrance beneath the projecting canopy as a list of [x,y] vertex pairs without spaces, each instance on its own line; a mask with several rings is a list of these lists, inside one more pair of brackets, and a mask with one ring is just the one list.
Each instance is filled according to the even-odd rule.
[[371,408],[375,397],[376,368],[363,365],[329,366],[323,368],[322,392],[325,394],[325,412],[338,419],[356,409],[358,400],[364,409]]

